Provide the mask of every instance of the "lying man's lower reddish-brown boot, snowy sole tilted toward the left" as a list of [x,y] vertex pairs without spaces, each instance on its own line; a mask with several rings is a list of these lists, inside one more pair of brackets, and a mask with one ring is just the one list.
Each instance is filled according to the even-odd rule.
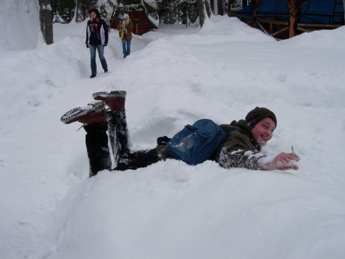
[[70,124],[81,122],[83,124],[94,124],[106,121],[106,104],[103,101],[90,102],[86,107],[74,108],[61,117],[61,122]]

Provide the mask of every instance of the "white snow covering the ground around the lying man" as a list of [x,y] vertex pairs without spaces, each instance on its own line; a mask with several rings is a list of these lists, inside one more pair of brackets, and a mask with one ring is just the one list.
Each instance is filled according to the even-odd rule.
[[[278,42],[213,17],[135,36],[126,59],[112,30],[95,79],[85,28],[55,24],[55,44],[0,53],[0,258],[345,257],[345,28]],[[135,150],[270,108],[264,153],[293,146],[299,170],[169,160],[89,179],[83,129],[60,117],[99,90],[127,91]]]

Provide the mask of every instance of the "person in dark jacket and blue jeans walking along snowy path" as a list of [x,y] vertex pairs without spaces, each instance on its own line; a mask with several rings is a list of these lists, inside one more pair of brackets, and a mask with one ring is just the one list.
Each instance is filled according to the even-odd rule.
[[86,48],[90,48],[90,78],[93,78],[97,75],[96,49],[98,50],[98,57],[104,73],[108,73],[108,65],[104,57],[104,47],[108,44],[108,26],[106,25],[106,21],[101,19],[101,14],[96,8],[90,9],[89,14],[90,21],[88,21],[88,26],[86,26]]

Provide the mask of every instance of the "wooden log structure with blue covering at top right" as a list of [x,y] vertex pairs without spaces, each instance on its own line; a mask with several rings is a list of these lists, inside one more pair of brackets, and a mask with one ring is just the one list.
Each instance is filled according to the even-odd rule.
[[229,4],[228,15],[239,17],[278,39],[344,25],[343,0],[251,0],[249,3],[237,12],[231,12]]

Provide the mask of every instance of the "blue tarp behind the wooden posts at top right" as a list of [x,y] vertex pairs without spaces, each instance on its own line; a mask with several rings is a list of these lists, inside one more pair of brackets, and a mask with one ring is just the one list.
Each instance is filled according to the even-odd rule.
[[[309,8],[302,7],[302,13],[306,14],[299,20],[300,23],[341,24],[344,21],[344,2],[337,0],[309,0]],[[333,16],[335,8],[335,15]],[[253,10],[249,6],[235,12],[237,14],[253,16]],[[288,21],[290,10],[286,0],[263,0],[257,7],[257,17]]]

